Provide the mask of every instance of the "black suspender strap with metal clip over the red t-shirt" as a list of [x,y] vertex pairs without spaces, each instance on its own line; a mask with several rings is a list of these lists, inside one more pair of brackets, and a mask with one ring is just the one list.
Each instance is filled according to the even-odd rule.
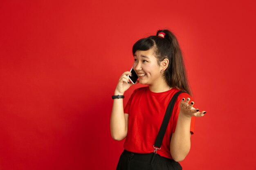
[[153,146],[156,149],[155,151],[157,151],[157,149],[161,148],[162,141],[164,139],[164,134],[166,132],[168,123],[169,123],[170,118],[171,118],[171,114],[173,112],[174,104],[177,100],[177,97],[180,95],[180,93],[185,93],[185,92],[184,91],[178,91],[177,93],[175,93],[173,95],[170,103],[168,104],[168,107],[166,109],[162,125],[161,125],[160,130],[159,130],[158,135],[157,135],[157,139],[155,140],[155,145]]

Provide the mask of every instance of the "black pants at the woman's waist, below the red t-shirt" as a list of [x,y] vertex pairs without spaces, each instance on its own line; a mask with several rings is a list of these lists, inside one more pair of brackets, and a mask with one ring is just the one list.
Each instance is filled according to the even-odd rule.
[[158,154],[138,154],[124,150],[116,170],[182,170],[180,163]]

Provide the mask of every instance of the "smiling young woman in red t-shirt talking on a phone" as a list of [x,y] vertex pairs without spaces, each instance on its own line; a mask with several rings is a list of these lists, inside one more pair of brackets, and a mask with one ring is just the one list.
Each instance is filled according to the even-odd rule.
[[[206,113],[195,107],[186,77],[180,46],[169,30],[143,38],[132,47],[137,88],[123,107],[124,92],[132,86],[129,71],[119,78],[115,89],[110,130],[115,140],[125,139],[117,170],[181,170],[190,150],[195,117]],[[154,146],[166,108],[178,91],[161,148]]]

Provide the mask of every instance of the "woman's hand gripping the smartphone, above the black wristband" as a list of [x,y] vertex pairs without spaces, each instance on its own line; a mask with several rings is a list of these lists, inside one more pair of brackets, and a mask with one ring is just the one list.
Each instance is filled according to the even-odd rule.
[[[131,72],[130,71],[126,71],[124,72],[121,77],[118,80],[118,84],[117,87],[115,89],[115,95],[123,95],[125,91],[128,90],[128,88],[130,88],[130,86],[132,86],[133,84],[131,82],[129,82],[129,78],[128,75],[131,76]],[[136,82],[136,84],[139,81]]]

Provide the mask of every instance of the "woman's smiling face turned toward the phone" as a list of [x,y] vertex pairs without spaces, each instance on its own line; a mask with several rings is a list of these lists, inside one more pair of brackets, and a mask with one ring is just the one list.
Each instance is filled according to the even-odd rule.
[[139,77],[140,84],[152,85],[162,79],[161,68],[157,63],[154,48],[147,51],[136,51],[134,54],[133,69]]

